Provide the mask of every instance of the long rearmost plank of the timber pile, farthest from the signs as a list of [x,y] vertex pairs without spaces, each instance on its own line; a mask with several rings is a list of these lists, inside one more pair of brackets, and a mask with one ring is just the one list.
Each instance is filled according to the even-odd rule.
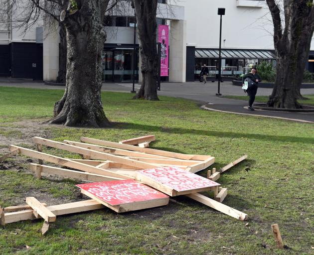
[[[204,156],[204,155],[182,154],[182,153],[176,153],[176,152],[170,152],[170,151],[158,150],[158,149],[152,149],[152,148],[141,148],[141,147],[134,146],[134,145],[120,144],[120,143],[117,143],[117,142],[104,141],[104,140],[99,140],[99,139],[83,137],[83,136],[81,137],[81,141],[94,143],[94,144],[98,144],[98,145],[102,145],[102,146],[111,146],[111,147],[114,147],[114,148],[127,149],[127,150],[133,150],[133,151],[140,151],[140,152],[145,152],[145,153],[148,153],[148,154],[159,155],[159,156],[166,156],[166,157],[173,157],[173,158],[178,158],[178,159],[204,160],[204,158],[208,157],[208,156]],[[200,157],[197,157],[197,156],[200,156]],[[198,159],[198,158],[201,158],[201,159]]]

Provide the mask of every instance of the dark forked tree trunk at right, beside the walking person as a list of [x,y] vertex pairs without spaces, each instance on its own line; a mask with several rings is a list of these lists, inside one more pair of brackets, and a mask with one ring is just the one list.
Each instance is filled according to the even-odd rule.
[[308,0],[285,0],[285,29],[282,30],[280,8],[275,0],[267,0],[274,23],[274,45],[277,55],[274,90],[267,105],[275,108],[299,109],[297,99],[314,31],[314,8]]

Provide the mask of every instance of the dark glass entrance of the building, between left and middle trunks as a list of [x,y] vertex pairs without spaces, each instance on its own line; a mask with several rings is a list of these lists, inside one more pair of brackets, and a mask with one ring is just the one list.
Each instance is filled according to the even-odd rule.
[[[103,80],[106,82],[132,82],[133,49],[112,49],[103,52]],[[135,80],[138,80],[138,58],[136,57]]]

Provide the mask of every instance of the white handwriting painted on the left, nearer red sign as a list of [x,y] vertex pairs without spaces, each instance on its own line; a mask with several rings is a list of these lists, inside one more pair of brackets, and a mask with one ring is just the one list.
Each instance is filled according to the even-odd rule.
[[124,183],[113,186],[95,185],[93,188],[89,188],[88,192],[106,201],[131,200],[135,196],[146,197],[158,193],[141,183]]

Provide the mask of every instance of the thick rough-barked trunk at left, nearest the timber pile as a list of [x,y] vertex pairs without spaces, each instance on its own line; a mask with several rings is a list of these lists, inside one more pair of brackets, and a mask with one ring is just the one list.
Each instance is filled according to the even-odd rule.
[[103,29],[109,0],[78,1],[79,10],[66,16],[66,89],[55,103],[50,123],[65,126],[110,126],[101,102],[101,54],[106,39]]

